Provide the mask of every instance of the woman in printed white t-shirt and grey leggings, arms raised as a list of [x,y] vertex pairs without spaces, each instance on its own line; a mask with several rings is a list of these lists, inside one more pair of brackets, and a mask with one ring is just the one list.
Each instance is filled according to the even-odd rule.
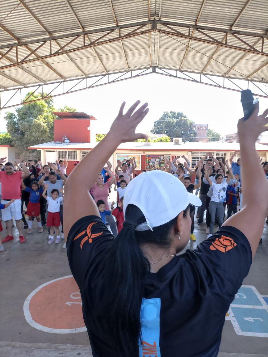
[[209,174],[208,174],[207,167],[204,168],[205,177],[209,183],[209,186],[212,187],[212,197],[208,206],[209,213],[211,215],[211,222],[209,225],[209,235],[207,236],[208,238],[212,236],[216,214],[218,215],[219,226],[221,227],[223,225],[223,216],[224,216],[223,202],[226,200],[226,190],[227,190],[228,182],[231,180],[231,178],[233,178],[232,170],[229,167],[228,170],[229,170],[229,176],[227,177],[226,181],[223,180],[222,174],[217,174],[215,176],[216,182],[212,182],[211,179],[208,177]]

